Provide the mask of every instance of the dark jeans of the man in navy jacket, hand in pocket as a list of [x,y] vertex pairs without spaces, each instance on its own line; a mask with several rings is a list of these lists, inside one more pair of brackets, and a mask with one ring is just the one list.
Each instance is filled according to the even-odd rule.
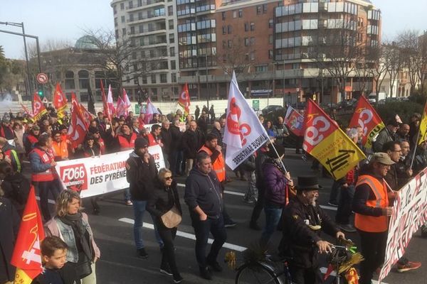
[[[218,219],[206,219],[200,221],[199,215],[191,214],[191,222],[196,235],[196,259],[200,268],[205,268],[207,262],[215,262],[219,250],[227,240],[227,232],[224,227],[223,216]],[[211,245],[211,251],[206,256],[206,246],[208,246],[209,232],[214,236],[214,242]]]

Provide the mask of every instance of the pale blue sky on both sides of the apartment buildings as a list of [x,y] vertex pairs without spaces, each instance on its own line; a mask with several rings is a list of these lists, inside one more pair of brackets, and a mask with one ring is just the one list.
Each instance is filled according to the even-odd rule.
[[[381,9],[384,39],[392,39],[405,29],[427,30],[426,0],[371,0]],[[26,33],[48,39],[75,40],[85,29],[114,28],[109,0],[0,0],[1,22],[23,22]],[[0,25],[0,30],[20,32],[20,28]],[[6,58],[23,58],[23,40],[0,33]]]

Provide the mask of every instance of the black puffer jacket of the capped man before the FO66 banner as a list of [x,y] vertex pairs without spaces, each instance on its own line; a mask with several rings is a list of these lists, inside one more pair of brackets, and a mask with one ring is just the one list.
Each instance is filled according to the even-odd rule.
[[154,190],[153,182],[157,178],[157,166],[150,155],[149,163],[134,152],[130,153],[126,161],[126,179],[129,182],[132,200],[149,200]]

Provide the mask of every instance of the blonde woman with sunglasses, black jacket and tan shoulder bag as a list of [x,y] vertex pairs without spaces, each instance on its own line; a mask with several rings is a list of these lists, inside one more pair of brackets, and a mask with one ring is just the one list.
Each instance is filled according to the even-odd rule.
[[160,272],[173,275],[174,283],[181,283],[183,278],[176,267],[174,252],[177,227],[169,229],[162,222],[162,215],[174,206],[178,209],[179,214],[182,215],[178,191],[176,190],[176,181],[172,180],[172,172],[170,170],[162,168],[159,170],[157,180],[154,181],[154,192],[147,203],[147,211],[154,217],[154,222],[157,224],[159,235],[164,243]]

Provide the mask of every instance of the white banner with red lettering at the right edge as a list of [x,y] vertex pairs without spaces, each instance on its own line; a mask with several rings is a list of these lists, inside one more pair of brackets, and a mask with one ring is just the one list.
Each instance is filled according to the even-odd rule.
[[413,233],[427,222],[427,168],[418,173],[399,190],[393,207],[387,238],[386,258],[379,274],[379,282],[389,274],[405,249]]

